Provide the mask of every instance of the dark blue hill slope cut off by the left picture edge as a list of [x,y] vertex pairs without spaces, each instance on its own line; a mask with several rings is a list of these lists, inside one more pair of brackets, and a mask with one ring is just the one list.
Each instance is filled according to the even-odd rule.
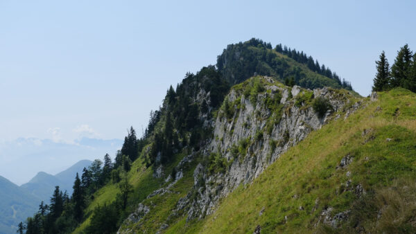
[[37,210],[40,199],[0,176],[0,233],[16,233],[17,224]]

